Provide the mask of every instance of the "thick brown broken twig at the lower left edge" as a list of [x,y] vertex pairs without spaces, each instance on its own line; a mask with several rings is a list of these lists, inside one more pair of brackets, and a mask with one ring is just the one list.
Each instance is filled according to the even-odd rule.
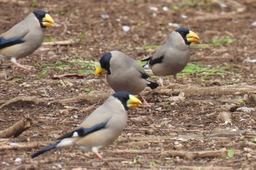
[[25,117],[22,120],[18,121],[10,128],[5,129],[4,131],[0,131],[0,138],[10,138],[17,137],[31,127],[32,119],[30,117]]

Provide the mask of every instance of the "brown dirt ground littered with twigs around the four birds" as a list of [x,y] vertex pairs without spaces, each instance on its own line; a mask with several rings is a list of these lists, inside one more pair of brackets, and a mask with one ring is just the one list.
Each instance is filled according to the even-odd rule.
[[[56,21],[45,42],[75,39],[20,59],[34,71],[0,60],[0,130],[33,120],[20,136],[0,139],[0,169],[256,169],[255,1],[0,0],[0,8],[0,33],[43,9]],[[200,36],[190,63],[211,72],[181,73],[178,82],[165,77],[165,87],[146,88],[151,107],[129,110],[123,134],[100,150],[103,160],[76,147],[31,159],[113,93],[81,61],[99,61],[110,50],[146,58],[155,50],[146,47],[162,45],[173,23]]]

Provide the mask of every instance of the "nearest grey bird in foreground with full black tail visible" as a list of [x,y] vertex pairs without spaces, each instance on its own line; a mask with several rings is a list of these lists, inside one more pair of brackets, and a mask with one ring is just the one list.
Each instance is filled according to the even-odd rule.
[[59,142],[31,155],[36,158],[44,152],[61,147],[78,146],[92,151],[102,159],[99,149],[113,143],[127,124],[129,108],[140,107],[141,101],[127,91],[113,93],[101,106],[94,110],[78,128],[62,136]]

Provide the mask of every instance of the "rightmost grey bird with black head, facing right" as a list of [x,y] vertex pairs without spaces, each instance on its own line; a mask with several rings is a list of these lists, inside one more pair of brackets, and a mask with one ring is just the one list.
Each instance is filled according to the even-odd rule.
[[167,42],[159,47],[151,57],[143,59],[147,61],[143,68],[149,68],[154,75],[159,76],[159,83],[163,85],[163,76],[173,75],[177,80],[177,74],[181,72],[190,58],[190,47],[192,42],[199,42],[199,36],[188,28],[177,28],[173,31]]

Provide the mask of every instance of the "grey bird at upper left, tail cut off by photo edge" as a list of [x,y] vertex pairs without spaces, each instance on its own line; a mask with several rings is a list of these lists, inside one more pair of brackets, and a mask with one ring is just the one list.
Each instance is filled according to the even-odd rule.
[[30,55],[42,45],[45,28],[49,26],[55,26],[55,23],[48,12],[31,12],[20,23],[0,35],[0,58],[11,61],[21,69],[29,69],[18,63],[18,59]]

